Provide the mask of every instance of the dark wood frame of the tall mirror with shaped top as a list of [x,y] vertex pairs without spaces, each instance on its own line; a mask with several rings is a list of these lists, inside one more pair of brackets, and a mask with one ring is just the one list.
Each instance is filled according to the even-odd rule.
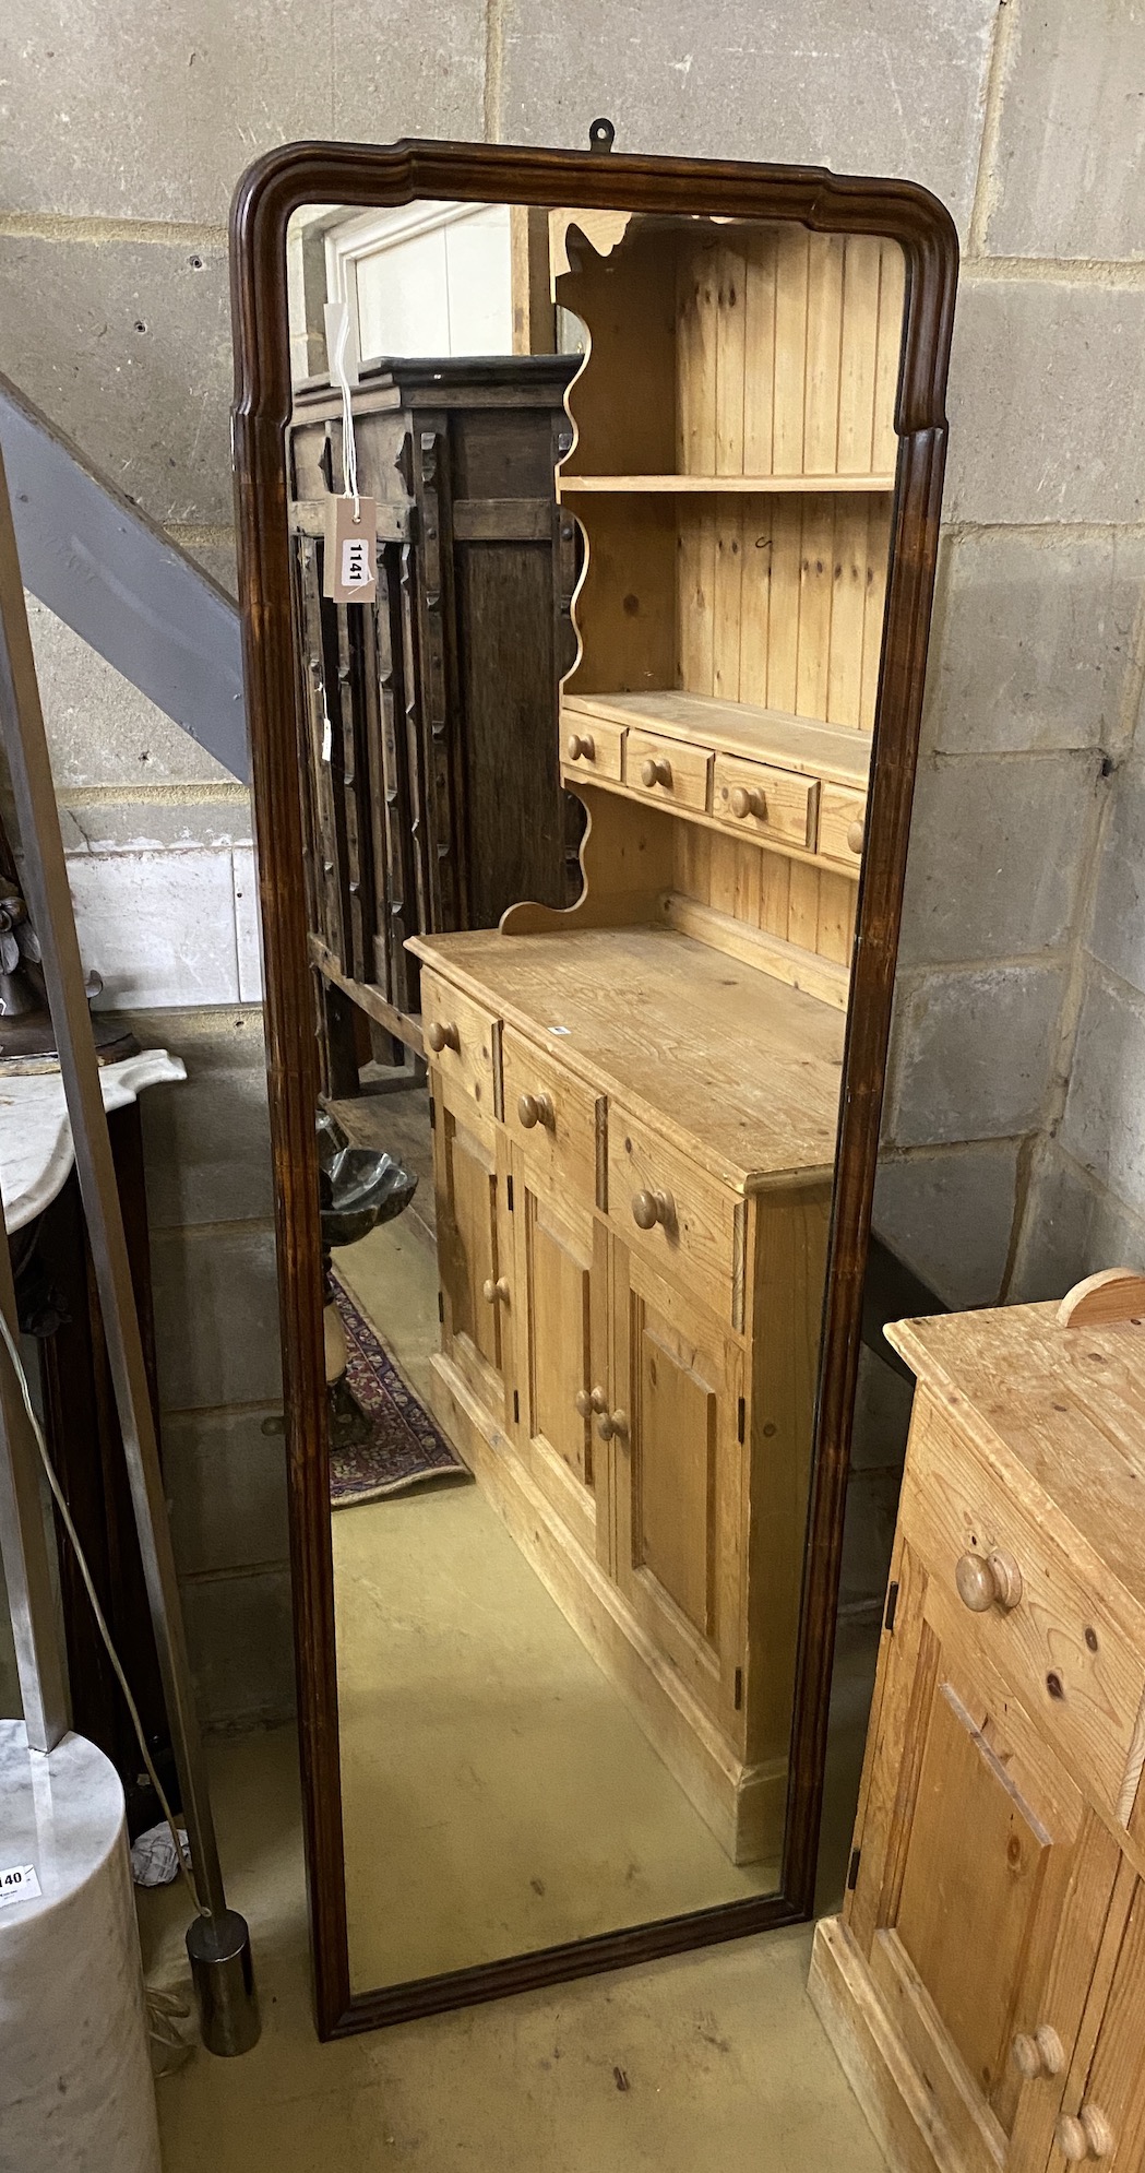
[[[813,230],[878,235],[904,250],[906,311],[869,845],[843,1060],[780,1891],[352,1995],[319,1306],[319,1082],[302,889],[285,469],[291,415],[285,267],[287,224],[304,204],[389,206],[415,198],[780,219]],[[304,1841],[322,2038],[745,1936],[806,1919],[813,1910],[863,1276],[939,550],[956,278],[958,241],[936,198],[910,183],[836,176],[821,167],[493,143],[289,143],[252,165],[235,193],[230,287],[239,595],[265,952]]]

